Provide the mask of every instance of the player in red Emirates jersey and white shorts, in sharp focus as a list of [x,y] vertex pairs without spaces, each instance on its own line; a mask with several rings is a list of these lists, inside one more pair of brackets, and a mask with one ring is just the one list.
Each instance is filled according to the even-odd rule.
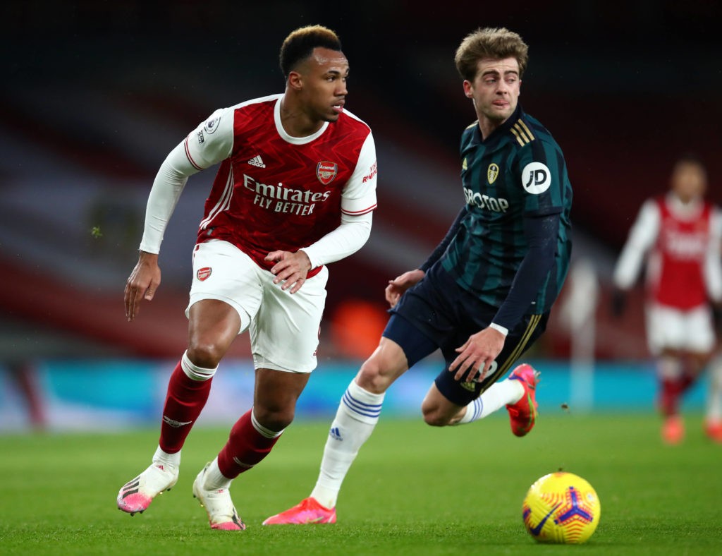
[[245,529],[230,498],[238,474],[271,451],[316,368],[326,264],[363,246],[376,207],[369,127],[344,110],[349,64],[336,34],[292,32],[281,48],[282,95],[217,110],[175,147],[150,192],[126,314],[160,284],[157,258],[188,176],[220,162],[193,249],[188,349],[170,376],[152,464],[118,493],[133,515],[178,480],[181,448],[209,395],[220,360],[251,334],[256,388],[216,459],[193,483],[212,529]]

